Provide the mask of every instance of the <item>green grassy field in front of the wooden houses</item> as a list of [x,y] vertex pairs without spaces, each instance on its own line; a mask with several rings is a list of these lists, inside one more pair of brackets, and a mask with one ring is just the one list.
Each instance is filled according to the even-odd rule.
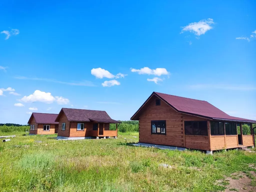
[[222,191],[228,182],[216,181],[235,172],[248,174],[256,185],[250,174],[256,172],[256,153],[131,146],[137,132],[76,141],[22,134],[0,132],[17,136],[0,143],[0,191]]

